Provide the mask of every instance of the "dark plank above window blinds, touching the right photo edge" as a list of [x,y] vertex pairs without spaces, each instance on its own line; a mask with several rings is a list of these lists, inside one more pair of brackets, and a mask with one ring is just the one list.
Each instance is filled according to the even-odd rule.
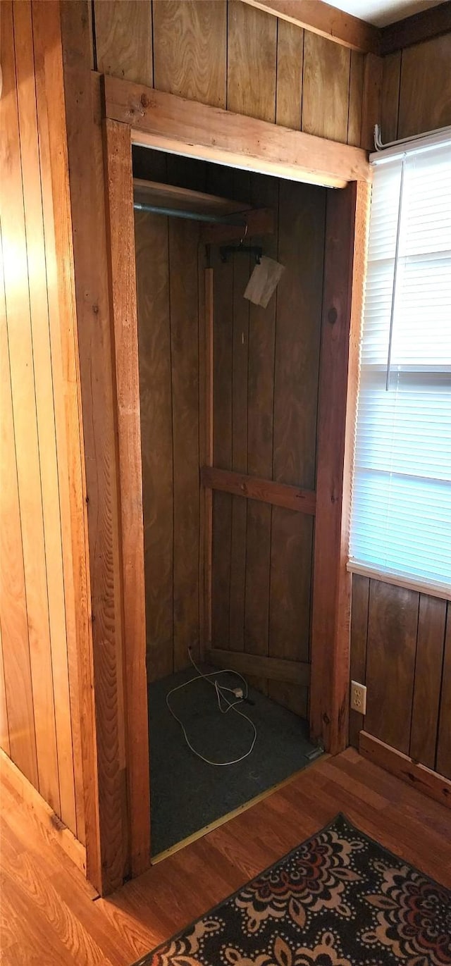
[[451,34],[403,50],[398,137],[451,124]]

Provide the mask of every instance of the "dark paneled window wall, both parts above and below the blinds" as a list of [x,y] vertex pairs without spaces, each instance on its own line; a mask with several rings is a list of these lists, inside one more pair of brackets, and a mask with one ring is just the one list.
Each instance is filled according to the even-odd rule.
[[[451,34],[383,60],[382,140],[451,124]],[[451,777],[451,607],[414,590],[354,575],[351,675],[366,683],[358,731]]]

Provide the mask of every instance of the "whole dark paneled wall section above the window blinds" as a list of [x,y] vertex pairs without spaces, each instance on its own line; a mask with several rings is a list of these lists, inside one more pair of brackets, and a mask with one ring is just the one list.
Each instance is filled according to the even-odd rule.
[[382,141],[451,124],[451,34],[383,58]]

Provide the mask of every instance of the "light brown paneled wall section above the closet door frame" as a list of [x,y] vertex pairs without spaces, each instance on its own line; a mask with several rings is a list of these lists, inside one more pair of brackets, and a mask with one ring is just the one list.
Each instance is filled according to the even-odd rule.
[[239,0],[95,0],[100,73],[360,144],[364,55]]

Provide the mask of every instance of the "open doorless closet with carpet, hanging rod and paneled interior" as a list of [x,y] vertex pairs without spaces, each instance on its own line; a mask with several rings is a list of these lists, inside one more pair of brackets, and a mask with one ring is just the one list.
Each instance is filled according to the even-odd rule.
[[132,161],[155,861],[322,753],[308,717],[327,189],[137,145]]

